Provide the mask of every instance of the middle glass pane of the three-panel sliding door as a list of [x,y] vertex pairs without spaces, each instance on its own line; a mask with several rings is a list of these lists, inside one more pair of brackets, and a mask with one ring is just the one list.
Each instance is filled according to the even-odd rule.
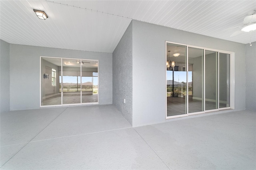
[[63,104],[81,103],[81,60],[63,59]]

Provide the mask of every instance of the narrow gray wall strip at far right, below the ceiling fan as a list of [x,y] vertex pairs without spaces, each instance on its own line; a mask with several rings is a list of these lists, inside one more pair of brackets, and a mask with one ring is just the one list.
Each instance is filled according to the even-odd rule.
[[246,44],[246,109],[256,111],[256,42]]

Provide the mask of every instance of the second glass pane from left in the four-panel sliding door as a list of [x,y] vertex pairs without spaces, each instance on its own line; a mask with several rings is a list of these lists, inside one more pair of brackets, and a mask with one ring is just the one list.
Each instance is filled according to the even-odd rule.
[[188,113],[204,111],[204,50],[188,47]]

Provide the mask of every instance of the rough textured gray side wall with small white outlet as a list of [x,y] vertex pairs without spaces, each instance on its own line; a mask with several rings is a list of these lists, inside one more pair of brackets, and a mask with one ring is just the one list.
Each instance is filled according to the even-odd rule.
[[132,124],[132,22],[113,52],[113,104]]

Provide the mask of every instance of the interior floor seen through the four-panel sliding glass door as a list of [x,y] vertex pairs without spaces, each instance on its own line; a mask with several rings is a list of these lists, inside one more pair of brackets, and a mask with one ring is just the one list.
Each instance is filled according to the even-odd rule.
[[[203,111],[203,101],[188,98],[188,113]],[[220,103],[220,107],[225,107],[225,104]],[[216,103],[206,101],[206,110],[216,109]],[[186,114],[186,97],[167,97],[167,116]]]

